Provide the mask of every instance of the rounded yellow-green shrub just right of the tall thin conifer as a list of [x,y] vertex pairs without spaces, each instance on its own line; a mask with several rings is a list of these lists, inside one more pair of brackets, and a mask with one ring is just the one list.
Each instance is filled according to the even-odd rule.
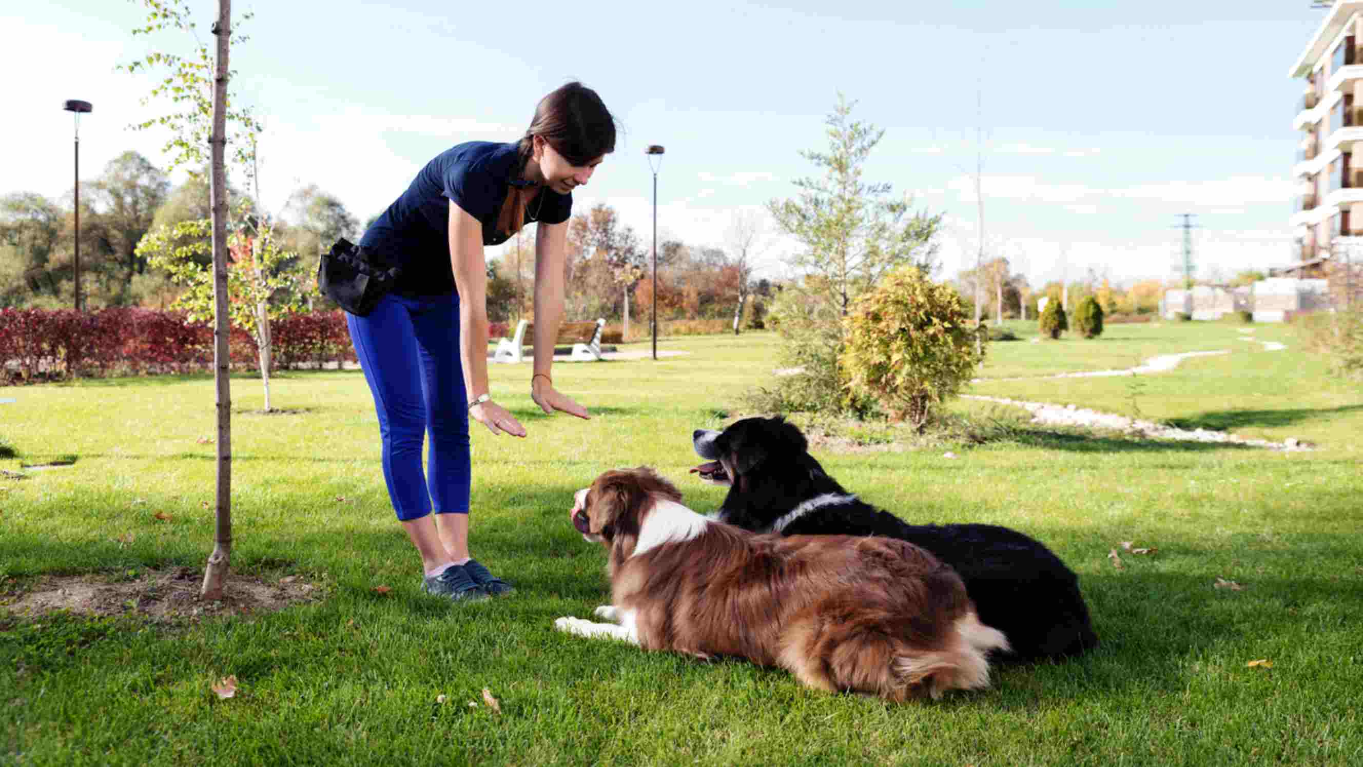
[[965,301],[949,285],[905,267],[863,293],[842,319],[838,362],[853,396],[875,399],[895,421],[923,431],[934,407],[960,391],[983,360]]

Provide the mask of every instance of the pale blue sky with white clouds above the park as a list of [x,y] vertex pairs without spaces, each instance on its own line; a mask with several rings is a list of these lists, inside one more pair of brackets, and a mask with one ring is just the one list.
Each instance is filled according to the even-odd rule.
[[[198,37],[134,35],[140,1],[44,0],[0,10],[0,195],[72,189],[136,150],[165,168],[166,135],[129,125],[153,75],[117,71],[150,50],[189,54],[214,0],[187,0]],[[517,140],[536,102],[577,79],[620,124],[616,151],[574,210],[605,203],[645,247],[725,247],[732,222],[818,176],[838,94],[885,129],[864,180],[943,214],[949,278],[981,233],[1033,286],[1089,271],[1169,279],[1190,219],[1197,277],[1293,260],[1302,80],[1288,76],[1326,11],[1308,0],[1175,3],[750,4],[328,3],[236,0],[249,40],[232,50],[233,98],[264,124],[260,196],[282,213],[316,184],[363,222],[432,157],[465,140]],[[656,176],[645,148],[667,154]],[[180,176],[173,176],[180,178]],[[767,218],[759,275],[788,277],[799,245]],[[496,249],[489,249],[489,256]]]

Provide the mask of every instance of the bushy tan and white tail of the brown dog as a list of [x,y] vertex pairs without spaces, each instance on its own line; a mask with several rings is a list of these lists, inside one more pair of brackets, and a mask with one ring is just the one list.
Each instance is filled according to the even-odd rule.
[[[934,699],[949,689],[983,689],[990,687],[991,650],[1007,651],[1003,632],[980,623],[970,610],[955,620],[951,636],[942,650],[898,655],[891,663],[897,680],[912,692],[927,692]],[[910,692],[910,693],[912,693]]]

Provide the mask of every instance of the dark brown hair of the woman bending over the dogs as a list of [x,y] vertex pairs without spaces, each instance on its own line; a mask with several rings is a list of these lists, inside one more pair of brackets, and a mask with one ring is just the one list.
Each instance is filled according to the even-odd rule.
[[[571,165],[586,165],[615,151],[615,116],[605,108],[601,97],[585,84],[571,82],[560,86],[536,105],[534,119],[519,142],[521,161],[512,180],[519,178],[519,169],[530,159],[534,136],[541,136]],[[536,189],[517,185],[507,189],[497,229],[508,237],[519,232],[525,222],[525,206],[534,192]]]

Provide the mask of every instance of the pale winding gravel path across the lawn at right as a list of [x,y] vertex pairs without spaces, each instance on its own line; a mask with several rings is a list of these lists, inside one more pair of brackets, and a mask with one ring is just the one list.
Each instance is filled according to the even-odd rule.
[[[1255,339],[1244,338],[1243,341],[1255,341]],[[1258,341],[1257,343],[1262,343],[1266,351],[1281,351],[1283,349],[1287,349],[1287,346],[1277,343],[1274,341]],[[1229,349],[1219,349],[1216,351],[1184,351],[1183,354],[1161,354],[1159,357],[1152,357],[1146,360],[1144,365],[1138,368],[1127,368],[1126,371],[1089,371],[1081,373],[1059,373],[1055,376],[1033,376],[1030,379],[988,379],[988,380],[999,381],[999,380],[1036,380],[1036,379],[1077,379],[1077,377],[1090,377],[1090,376],[1101,377],[1101,376],[1133,376],[1144,373],[1159,373],[1178,368],[1179,364],[1183,362],[1183,360],[1187,360],[1190,357],[1208,357],[1208,356],[1229,354],[1229,353],[1231,353]],[[983,379],[976,379],[976,381],[980,380]],[[1100,413],[1097,410],[1089,410],[1086,407],[1075,407],[1074,405],[1048,405],[1044,402],[1022,402],[1018,399],[1009,399],[1006,396],[983,396],[976,394],[962,394],[961,396],[965,399],[981,399],[985,402],[996,402],[999,405],[1011,405],[1015,407],[1022,407],[1029,413],[1032,413],[1033,424],[1059,425],[1059,426],[1092,426],[1099,429],[1114,429],[1134,436],[1144,436],[1161,440],[1243,444],[1250,447],[1262,447],[1268,450],[1281,450],[1281,451],[1311,450],[1313,447],[1310,443],[1303,443],[1296,437],[1288,437],[1284,441],[1276,443],[1269,440],[1251,440],[1238,435],[1231,435],[1227,432],[1212,432],[1208,429],[1193,429],[1193,431],[1176,429],[1174,426],[1165,426],[1163,424],[1156,424],[1153,421],[1127,418],[1126,416],[1115,416],[1112,413]]]

